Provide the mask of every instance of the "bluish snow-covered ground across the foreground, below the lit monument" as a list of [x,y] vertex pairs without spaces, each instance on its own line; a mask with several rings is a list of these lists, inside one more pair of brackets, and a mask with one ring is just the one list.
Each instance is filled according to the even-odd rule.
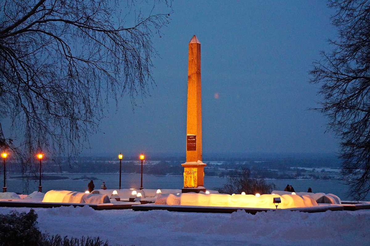
[[[0,213],[30,208],[0,208]],[[305,213],[244,211],[185,213],[168,211],[95,211],[84,206],[35,208],[41,232],[99,236],[110,245],[356,245],[369,246],[370,210]]]

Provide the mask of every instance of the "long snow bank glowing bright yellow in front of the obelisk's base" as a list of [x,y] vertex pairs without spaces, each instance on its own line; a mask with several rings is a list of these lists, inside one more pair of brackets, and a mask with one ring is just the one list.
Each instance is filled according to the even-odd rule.
[[155,204],[158,205],[189,205],[189,206],[220,206],[240,208],[276,208],[273,198],[280,198],[278,208],[300,208],[318,206],[309,195],[228,195],[228,194],[197,194],[193,192],[181,194],[161,194]]

